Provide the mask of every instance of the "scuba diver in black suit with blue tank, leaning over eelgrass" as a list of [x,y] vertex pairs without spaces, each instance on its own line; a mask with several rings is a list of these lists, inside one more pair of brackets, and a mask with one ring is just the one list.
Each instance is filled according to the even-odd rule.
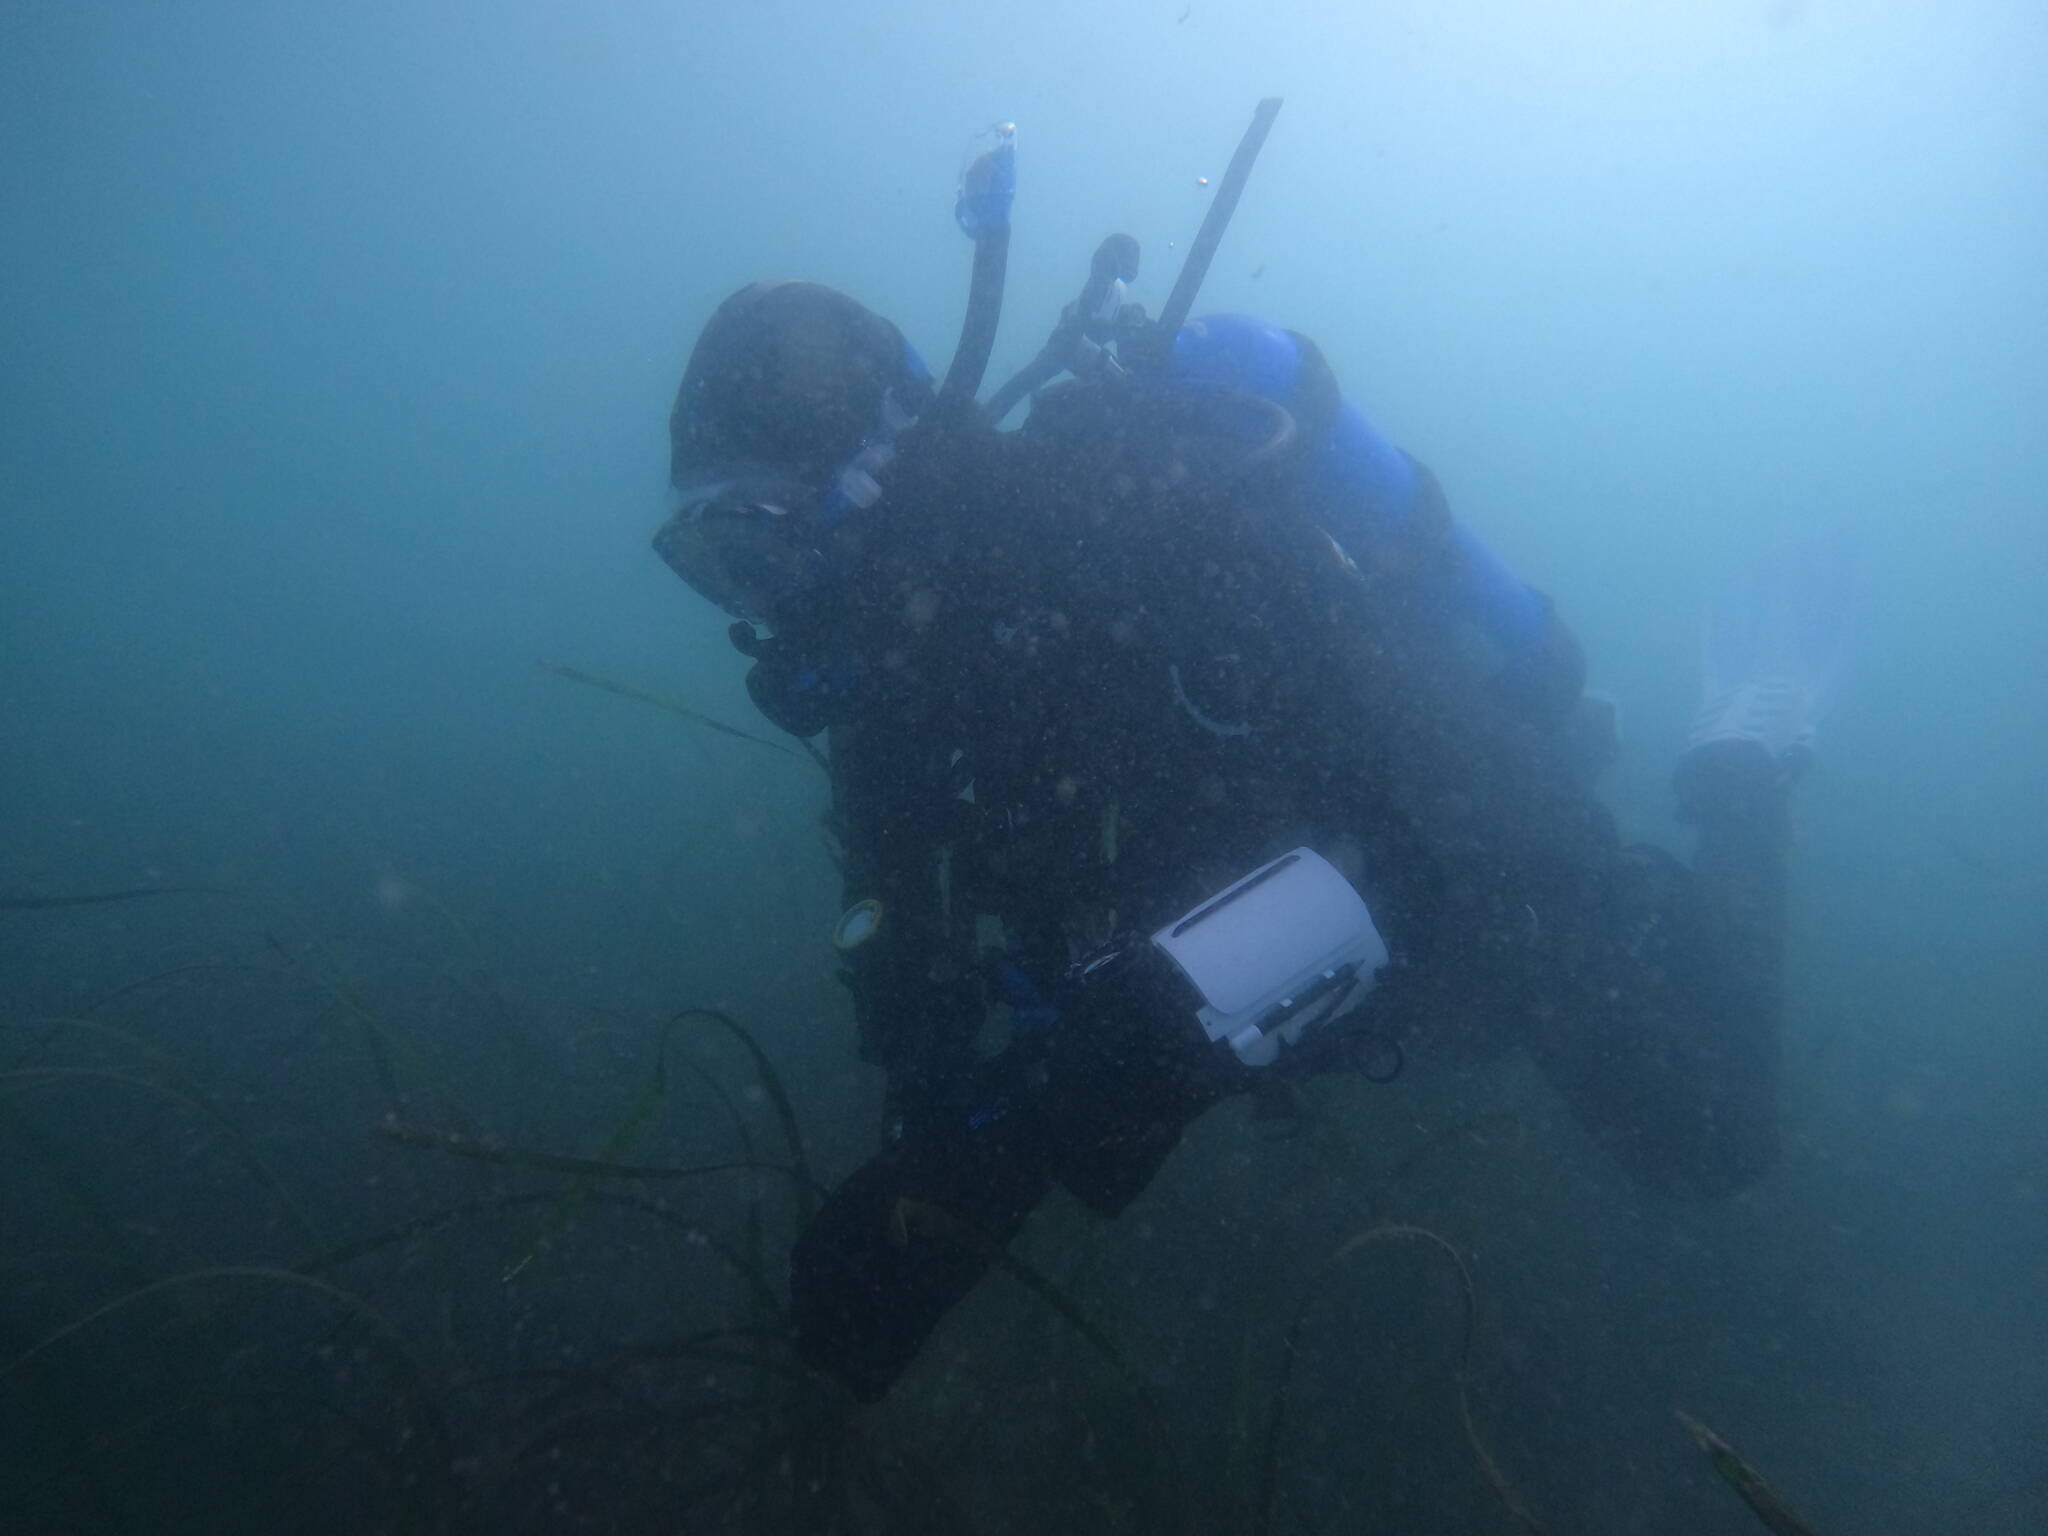
[[655,547],[733,616],[762,713],[827,737],[834,942],[887,1124],[791,1305],[862,1401],[1055,1184],[1114,1214],[1264,1083],[1520,1044],[1649,1188],[1776,1155],[1817,686],[1722,635],[1677,770],[1696,860],[1620,842],[1591,795],[1612,715],[1552,604],[1313,342],[1188,319],[1276,106],[1161,315],[1112,236],[987,403],[1008,129],[961,190],[944,379],[850,297],[756,283],[676,395]]

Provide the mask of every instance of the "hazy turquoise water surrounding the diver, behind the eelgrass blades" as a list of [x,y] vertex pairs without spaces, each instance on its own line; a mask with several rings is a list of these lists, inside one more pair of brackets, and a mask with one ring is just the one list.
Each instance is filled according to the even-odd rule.
[[[956,1507],[864,1495],[854,1528],[1163,1528],[1167,1483],[1190,1530],[1251,1528],[1292,1309],[1374,1219],[1468,1255],[1475,1415],[1552,1530],[1755,1528],[1671,1403],[1819,1530],[2048,1526],[2044,72],[2019,0],[10,4],[0,897],[186,891],[0,909],[0,1511],[823,1528],[780,1450],[662,1493],[723,1464],[723,1427],[647,1427],[700,1360],[637,1364],[616,1421],[522,1460],[553,1423],[522,1372],[768,1303],[662,1219],[379,1124],[596,1157],[657,1020],[702,1004],[754,1030],[823,1180],[866,1153],[823,778],[537,664],[756,729],[723,614],[647,549],[711,307],[809,276],[942,362],[954,176],[1014,119],[1004,377],[1112,229],[1157,309],[1202,178],[1284,94],[1202,307],[1315,336],[1556,598],[1622,705],[1634,834],[1681,840],[1704,594],[1851,530],[1855,659],[1798,803],[1786,1157],[1661,1206],[1516,1057],[1319,1083],[1288,1137],[1229,1106],[1124,1219],[1049,1206],[1020,1245],[1128,1374],[991,1280],[858,1430]],[[782,1157],[750,1057],[715,1028],[688,1051]],[[625,1161],[731,1155],[670,1069]],[[758,1202],[774,1278],[797,1210],[760,1178],[666,1194],[719,1241]],[[328,1292],[248,1278],[35,1352],[156,1280],[500,1194],[535,1200],[317,1270],[406,1370]],[[1333,1286],[1274,1528],[1509,1528],[1458,1427],[1454,1278],[1389,1251]]]

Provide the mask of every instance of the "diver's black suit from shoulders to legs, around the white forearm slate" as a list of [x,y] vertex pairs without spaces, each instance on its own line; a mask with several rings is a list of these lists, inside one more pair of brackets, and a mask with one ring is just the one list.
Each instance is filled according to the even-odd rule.
[[1288,848],[1346,870],[1391,963],[1260,1071],[1464,1034],[1526,1047],[1653,1188],[1774,1155],[1782,784],[1694,764],[1696,868],[1624,848],[1567,750],[1575,643],[1501,657],[1446,612],[1434,483],[1399,547],[1343,551],[1300,444],[1225,426],[1071,387],[1022,432],[920,430],[815,633],[776,641],[768,682],[856,678],[831,819],[848,901],[883,903],[846,981],[895,1130],[793,1260],[807,1356],[862,1397],[1053,1182],[1114,1212],[1251,1083],[1161,963],[1071,969]]

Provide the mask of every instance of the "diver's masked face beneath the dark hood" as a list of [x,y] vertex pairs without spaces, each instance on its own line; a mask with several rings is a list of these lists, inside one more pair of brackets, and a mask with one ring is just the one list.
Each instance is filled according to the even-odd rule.
[[653,537],[668,567],[733,618],[786,625],[817,582],[821,492],[772,469],[741,467],[676,494]]

